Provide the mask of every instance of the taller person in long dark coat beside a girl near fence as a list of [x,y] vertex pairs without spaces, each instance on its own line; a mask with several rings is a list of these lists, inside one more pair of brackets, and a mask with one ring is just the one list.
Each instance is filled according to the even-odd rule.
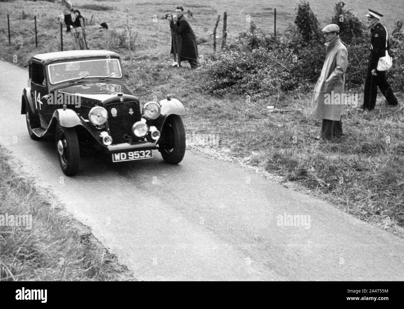
[[183,11],[184,8],[182,6],[177,6],[177,9],[175,9],[176,16],[173,17],[173,27],[181,38],[179,42],[179,60],[188,61],[191,68],[195,69],[200,66],[198,61],[198,45],[196,44],[194,31],[192,31],[191,26],[189,26],[187,19],[183,15]]

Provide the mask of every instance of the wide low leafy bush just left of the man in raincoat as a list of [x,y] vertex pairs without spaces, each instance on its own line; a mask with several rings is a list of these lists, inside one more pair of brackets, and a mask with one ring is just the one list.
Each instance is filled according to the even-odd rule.
[[240,34],[227,50],[206,62],[200,87],[211,94],[248,94],[262,98],[296,89],[308,90],[318,79],[324,46],[301,47],[297,36],[274,37],[257,29]]

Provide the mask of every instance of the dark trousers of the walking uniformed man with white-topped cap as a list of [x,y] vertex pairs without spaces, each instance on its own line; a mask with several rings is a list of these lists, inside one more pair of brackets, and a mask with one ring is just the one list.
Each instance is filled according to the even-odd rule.
[[376,70],[376,74],[376,76],[373,76],[372,69],[368,68],[363,96],[363,109],[368,109],[369,111],[375,108],[378,86],[389,105],[398,104],[397,98],[393,94],[393,90],[391,90],[389,83],[387,83],[386,72]]

